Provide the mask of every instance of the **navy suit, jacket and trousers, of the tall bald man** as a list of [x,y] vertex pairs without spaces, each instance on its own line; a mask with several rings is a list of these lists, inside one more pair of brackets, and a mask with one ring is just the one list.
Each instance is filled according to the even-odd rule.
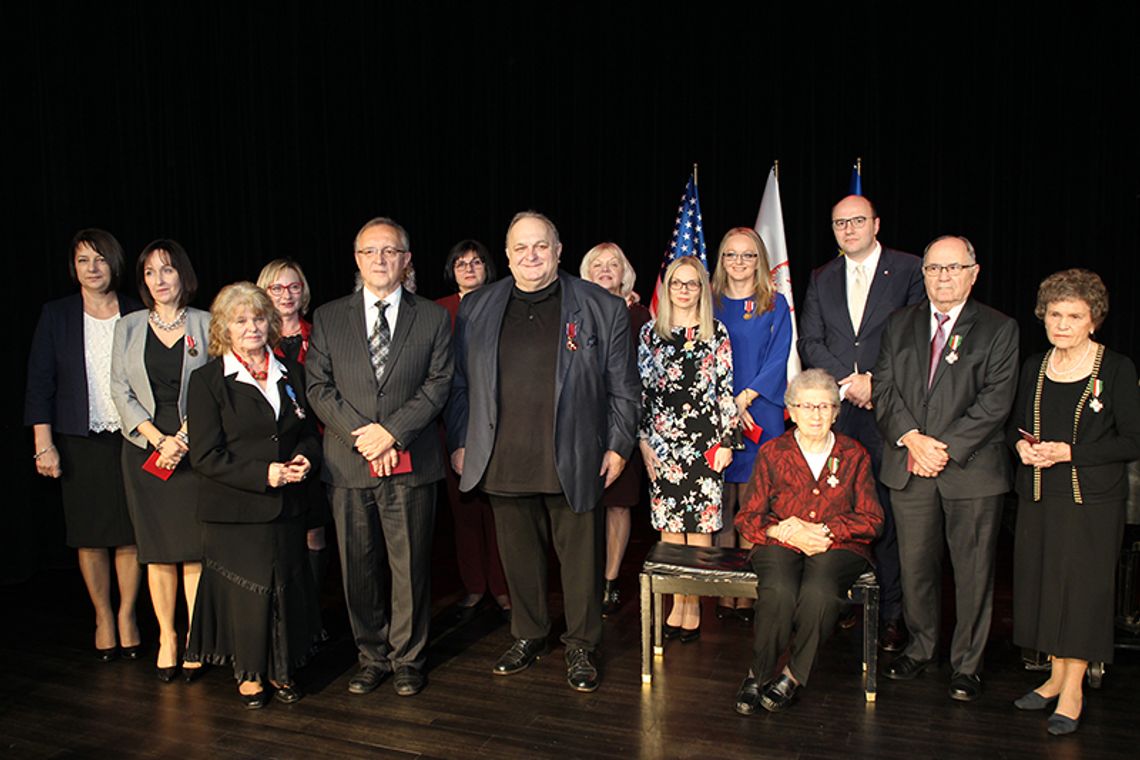
[[[922,261],[909,253],[881,248],[868,289],[863,320],[856,333],[847,305],[847,259],[836,256],[813,271],[807,284],[807,296],[799,314],[799,341],[796,343],[804,367],[825,369],[837,381],[854,371],[870,371],[879,358],[879,342],[887,318],[925,297]],[[879,481],[882,438],[874,412],[845,402],[834,427],[862,443],[871,455],[876,491],[883,513],[882,532],[874,542],[876,573],[881,589],[879,613],[885,621],[898,620],[903,614],[898,538],[890,509],[890,491]]]

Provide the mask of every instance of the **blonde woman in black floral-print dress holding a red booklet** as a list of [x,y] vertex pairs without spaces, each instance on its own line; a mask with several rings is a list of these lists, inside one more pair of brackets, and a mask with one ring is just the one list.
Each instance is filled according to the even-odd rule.
[[[732,345],[712,319],[708,272],[675,260],[661,284],[657,320],[642,328],[641,452],[650,477],[653,528],[669,544],[711,546],[720,529],[724,468],[740,443],[732,394]],[[675,595],[666,638],[700,637],[700,597]]]

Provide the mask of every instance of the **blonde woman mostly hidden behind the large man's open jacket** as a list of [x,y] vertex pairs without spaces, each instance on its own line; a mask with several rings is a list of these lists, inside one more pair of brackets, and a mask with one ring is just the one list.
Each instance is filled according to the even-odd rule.
[[[617,243],[598,243],[586,252],[579,268],[584,280],[604,287],[622,299],[629,308],[629,336],[637,346],[641,328],[650,320],[649,310],[638,303],[634,283],[637,273]],[[602,593],[602,614],[612,615],[621,605],[618,590],[618,573],[621,559],[629,544],[632,520],[629,508],[641,498],[642,461],[641,452],[634,449],[626,468],[618,480],[605,489],[602,506],[605,507],[605,589]]]

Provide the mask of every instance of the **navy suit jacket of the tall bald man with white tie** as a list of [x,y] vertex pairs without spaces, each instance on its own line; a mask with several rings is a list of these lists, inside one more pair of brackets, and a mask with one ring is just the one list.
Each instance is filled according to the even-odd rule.
[[847,259],[836,256],[812,272],[804,307],[799,310],[799,349],[805,367],[828,370],[837,381],[858,367],[870,371],[879,358],[887,318],[898,309],[926,299],[922,260],[910,253],[882,248],[871,278],[858,333],[847,308]]

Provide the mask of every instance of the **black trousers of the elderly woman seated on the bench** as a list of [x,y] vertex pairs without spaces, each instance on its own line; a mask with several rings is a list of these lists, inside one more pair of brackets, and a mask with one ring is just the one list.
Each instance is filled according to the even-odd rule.
[[752,675],[762,683],[773,676],[791,645],[788,670],[807,685],[820,645],[831,636],[847,589],[868,567],[854,551],[833,549],[808,557],[782,546],[752,549],[756,623]]

